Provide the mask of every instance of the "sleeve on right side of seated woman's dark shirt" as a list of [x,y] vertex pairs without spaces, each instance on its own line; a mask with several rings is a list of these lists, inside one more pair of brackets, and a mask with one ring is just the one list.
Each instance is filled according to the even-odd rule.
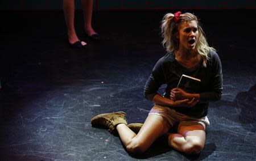
[[[211,51],[213,52],[213,51]],[[216,101],[221,99],[223,90],[223,77],[221,69],[221,61],[216,52],[212,53],[212,65],[210,75],[210,90],[200,94],[201,102]]]

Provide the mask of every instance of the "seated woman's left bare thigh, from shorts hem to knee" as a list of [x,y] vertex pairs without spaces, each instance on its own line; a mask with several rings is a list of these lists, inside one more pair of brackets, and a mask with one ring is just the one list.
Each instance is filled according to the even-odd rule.
[[161,135],[168,132],[170,124],[159,115],[148,115],[141,130],[133,139],[133,143],[138,143],[142,151],[146,151],[152,143]]

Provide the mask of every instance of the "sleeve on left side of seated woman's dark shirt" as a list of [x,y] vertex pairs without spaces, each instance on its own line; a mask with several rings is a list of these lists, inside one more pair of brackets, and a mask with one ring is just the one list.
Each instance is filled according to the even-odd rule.
[[144,98],[152,100],[156,94],[158,94],[159,87],[164,83],[164,72],[162,67],[162,61],[159,60],[154,66],[150,77],[144,86]]

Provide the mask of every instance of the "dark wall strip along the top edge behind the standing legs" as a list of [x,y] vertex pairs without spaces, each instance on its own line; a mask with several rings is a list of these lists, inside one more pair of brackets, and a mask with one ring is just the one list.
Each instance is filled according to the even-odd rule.
[[[255,9],[255,0],[94,0],[95,10]],[[77,9],[81,1],[75,0]],[[1,0],[0,10],[61,10],[62,0]]]

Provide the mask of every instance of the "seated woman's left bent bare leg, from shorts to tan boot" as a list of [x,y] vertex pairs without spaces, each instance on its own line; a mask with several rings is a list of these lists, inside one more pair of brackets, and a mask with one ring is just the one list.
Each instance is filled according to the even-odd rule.
[[127,151],[141,153],[146,151],[152,143],[170,129],[168,121],[159,115],[148,115],[141,130],[136,135],[125,124],[117,125],[117,132]]

